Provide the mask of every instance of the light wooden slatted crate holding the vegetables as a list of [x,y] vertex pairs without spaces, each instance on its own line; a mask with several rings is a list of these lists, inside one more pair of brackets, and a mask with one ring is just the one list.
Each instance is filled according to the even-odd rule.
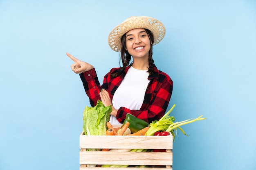
[[[122,168],[86,167],[97,165],[149,165],[145,170],[168,169],[173,164],[173,137],[169,136],[88,136],[80,135],[80,170],[117,170]],[[101,152],[86,151],[86,148],[111,149],[166,149],[166,152]],[[124,168],[123,168],[124,169]],[[141,170],[127,167],[126,170]]]

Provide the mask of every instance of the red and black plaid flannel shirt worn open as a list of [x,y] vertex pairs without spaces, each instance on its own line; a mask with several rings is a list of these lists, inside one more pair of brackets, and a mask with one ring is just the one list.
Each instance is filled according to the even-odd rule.
[[[90,99],[90,104],[92,107],[97,104],[98,100],[101,100],[99,96],[101,88],[106,89],[110,94],[111,100],[113,99],[115,91],[121,84],[130,66],[131,65],[129,65],[124,71],[122,71],[120,68],[112,68],[110,72],[104,76],[102,86],[99,83],[95,69],[80,74],[83,87]],[[148,83],[141,108],[139,110],[130,110],[125,107],[116,108],[118,109],[117,120],[119,122],[124,122],[127,113],[145,120],[148,123],[151,123],[153,120],[159,120],[162,116],[164,116],[171,99],[173,81],[166,73],[158,70],[155,65],[153,69],[154,73],[148,76],[150,83]],[[120,72],[121,75],[112,78],[110,74],[114,72]]]

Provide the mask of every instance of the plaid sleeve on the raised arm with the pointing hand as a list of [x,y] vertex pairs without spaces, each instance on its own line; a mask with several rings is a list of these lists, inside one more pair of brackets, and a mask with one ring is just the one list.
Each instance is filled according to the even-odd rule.
[[89,70],[87,72],[79,74],[81,81],[83,82],[83,87],[85,89],[85,93],[89,97],[90,104],[92,107],[97,105],[97,101],[100,100],[99,92],[100,92],[100,83],[96,74],[95,68]]

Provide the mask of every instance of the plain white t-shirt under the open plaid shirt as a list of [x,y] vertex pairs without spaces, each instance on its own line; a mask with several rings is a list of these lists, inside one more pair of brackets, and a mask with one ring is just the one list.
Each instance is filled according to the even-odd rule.
[[[115,109],[126,107],[130,110],[139,110],[148,87],[148,76],[148,70],[137,70],[131,66],[113,96],[113,107]],[[114,116],[110,116],[110,123],[120,124]]]

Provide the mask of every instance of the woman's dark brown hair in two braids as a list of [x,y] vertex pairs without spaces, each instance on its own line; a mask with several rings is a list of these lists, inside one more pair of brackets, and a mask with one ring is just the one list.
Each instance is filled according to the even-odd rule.
[[[153,74],[153,63],[154,63],[154,60],[153,60],[153,45],[154,44],[154,37],[153,37],[153,34],[151,31],[149,31],[148,29],[144,28],[146,33],[148,34],[148,37],[149,37],[149,41],[151,42],[151,45],[150,45],[150,50],[148,51],[148,62],[149,62],[149,68],[148,68],[148,72],[149,74]],[[130,64],[130,60],[132,59],[132,56],[131,54],[129,54],[129,52],[126,50],[126,34],[124,34],[122,37],[121,37],[121,42],[122,42],[122,46],[121,46],[121,57],[120,57],[120,60],[122,60],[122,64],[123,66],[121,67],[120,65],[120,69],[124,71],[124,69]],[[111,74],[111,76],[114,78],[114,77],[117,77],[119,76],[121,73],[120,72],[115,72],[113,74]]]

